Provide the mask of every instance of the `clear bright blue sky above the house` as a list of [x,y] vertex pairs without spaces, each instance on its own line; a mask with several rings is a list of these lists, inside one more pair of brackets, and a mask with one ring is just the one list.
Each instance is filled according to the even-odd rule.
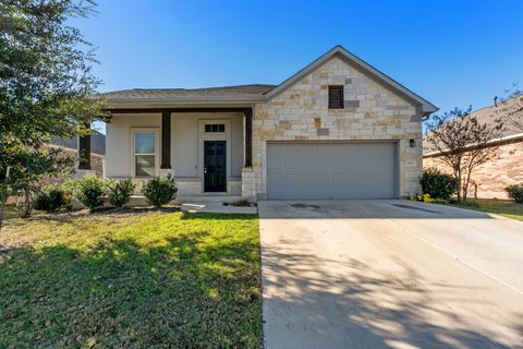
[[441,111],[523,88],[522,0],[98,0],[97,12],[73,24],[101,92],[279,84],[336,45]]

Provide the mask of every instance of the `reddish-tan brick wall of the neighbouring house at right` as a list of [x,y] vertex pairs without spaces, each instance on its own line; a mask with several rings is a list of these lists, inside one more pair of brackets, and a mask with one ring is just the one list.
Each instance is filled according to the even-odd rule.
[[[424,156],[423,168],[430,167],[451,172],[438,157]],[[508,198],[504,188],[523,182],[523,140],[500,145],[496,158],[476,169],[473,181],[470,195],[477,192],[482,198]]]

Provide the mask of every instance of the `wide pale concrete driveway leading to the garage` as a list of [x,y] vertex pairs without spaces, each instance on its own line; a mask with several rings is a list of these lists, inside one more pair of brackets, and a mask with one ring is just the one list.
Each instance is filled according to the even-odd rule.
[[272,348],[523,348],[523,222],[408,201],[260,202]]

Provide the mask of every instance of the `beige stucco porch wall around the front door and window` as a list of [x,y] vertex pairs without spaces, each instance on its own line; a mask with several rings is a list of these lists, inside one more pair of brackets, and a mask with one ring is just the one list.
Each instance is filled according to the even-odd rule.
[[[243,115],[240,113],[172,113],[171,115],[171,167],[177,177],[179,188],[184,194],[200,193],[203,179],[203,125],[206,121],[224,121],[228,127],[228,179],[234,188],[241,191],[243,167]],[[156,128],[158,130],[157,167],[161,163],[160,137],[161,115],[113,115],[111,123],[107,124],[106,177],[132,177],[132,130],[139,128]],[[199,129],[199,131],[198,131]],[[221,137],[218,136],[218,137]],[[238,183],[233,183],[236,181]],[[231,188],[231,185],[229,186]]]

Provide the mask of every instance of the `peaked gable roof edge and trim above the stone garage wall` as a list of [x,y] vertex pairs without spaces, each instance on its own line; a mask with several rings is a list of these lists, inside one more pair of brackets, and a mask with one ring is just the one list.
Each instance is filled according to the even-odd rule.
[[266,96],[267,99],[271,99],[275,96],[279,95],[290,86],[292,86],[294,83],[296,83],[303,76],[309,74],[313,72],[315,69],[327,62],[333,57],[339,57],[345,62],[348,62],[350,65],[354,67],[355,69],[360,70],[363,74],[369,76],[370,79],[375,80],[376,82],[380,83],[381,85],[385,85],[386,87],[394,91],[397,94],[406,97],[411,101],[413,101],[416,105],[419,105],[421,111],[423,113],[431,113],[438,110],[438,107],[426,100],[425,98],[422,98],[421,96],[416,95],[405,86],[401,85],[398,83],[396,80],[392,77],[386,75],[385,73],[380,72],[373,65],[368,64],[364,60],[360,59],[358,57],[352,55],[345,48],[343,48],[341,45],[338,45],[333,47],[331,50],[328,52],[324,53],[319,58],[317,58],[315,61],[313,61],[311,64],[306,65],[302,70],[300,70],[297,73],[269,91]]

